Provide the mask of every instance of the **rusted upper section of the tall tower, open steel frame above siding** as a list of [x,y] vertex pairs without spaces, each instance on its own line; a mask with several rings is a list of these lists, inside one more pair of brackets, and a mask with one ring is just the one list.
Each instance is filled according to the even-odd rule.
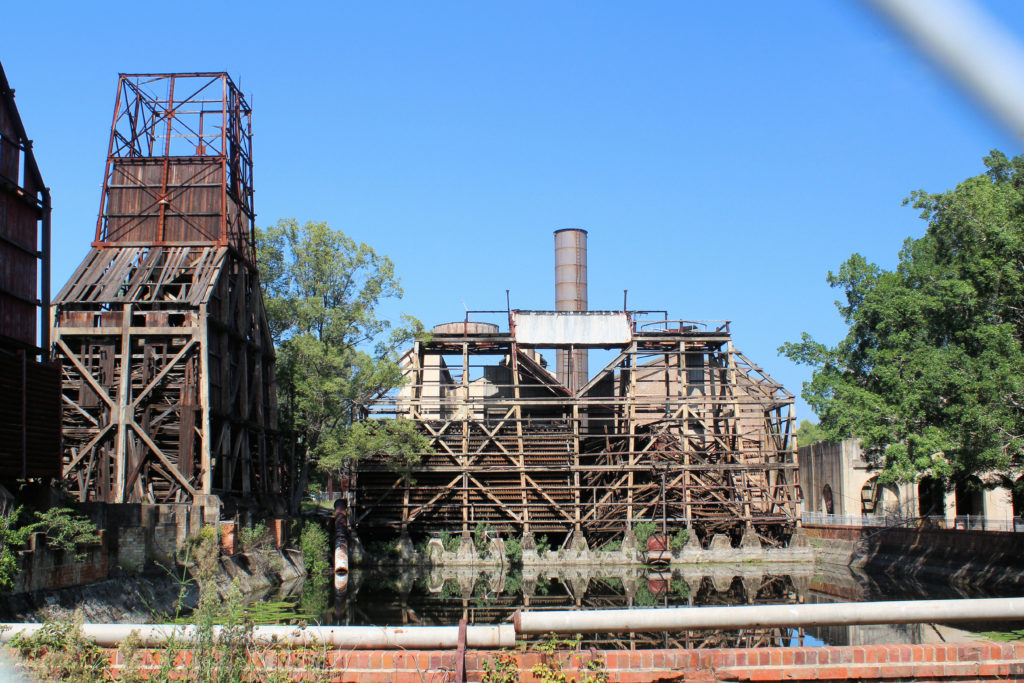
[[250,118],[226,74],[122,74],[95,244],[212,243],[254,263]]

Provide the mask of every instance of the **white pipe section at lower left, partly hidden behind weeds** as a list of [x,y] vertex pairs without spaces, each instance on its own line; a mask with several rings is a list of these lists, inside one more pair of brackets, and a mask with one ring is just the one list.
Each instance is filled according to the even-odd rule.
[[[22,634],[31,636],[42,624],[0,624],[0,643]],[[214,637],[223,633],[214,627]],[[170,639],[182,644],[196,640],[196,627],[170,624],[83,624],[82,634],[102,647],[115,647],[132,632],[144,647],[160,645]],[[279,645],[322,645],[341,649],[455,649],[459,646],[457,626],[257,626],[253,638]],[[511,624],[470,626],[466,628],[466,646],[480,649],[513,647],[515,631]]]

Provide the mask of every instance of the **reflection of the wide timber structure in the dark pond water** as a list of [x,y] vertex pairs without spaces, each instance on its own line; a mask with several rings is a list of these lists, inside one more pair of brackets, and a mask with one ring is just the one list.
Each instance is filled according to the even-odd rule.
[[[608,609],[798,603],[806,573],[767,573],[762,567],[687,567],[648,572],[637,567],[434,568],[403,574],[353,570],[335,616],[343,624],[502,624],[517,609]],[[785,569],[783,569],[784,571]],[[801,588],[805,587],[805,588]],[[692,631],[674,634],[601,634],[583,645],[603,648],[765,647],[787,645],[792,629]],[[542,639],[543,640],[543,639]]]

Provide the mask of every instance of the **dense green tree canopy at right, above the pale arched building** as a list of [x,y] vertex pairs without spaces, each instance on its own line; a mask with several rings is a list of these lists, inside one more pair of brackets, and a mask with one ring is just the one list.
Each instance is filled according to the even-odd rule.
[[928,222],[894,270],[852,255],[827,282],[848,325],[780,352],[828,438],[859,437],[888,480],[1012,475],[1024,462],[1024,158],[904,201]]

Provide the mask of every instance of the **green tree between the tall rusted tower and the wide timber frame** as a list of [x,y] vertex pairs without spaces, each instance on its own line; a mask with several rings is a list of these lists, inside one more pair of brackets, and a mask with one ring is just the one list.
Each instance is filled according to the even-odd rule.
[[305,456],[292,508],[312,466],[338,471],[379,456],[408,469],[429,443],[411,424],[357,422],[368,401],[401,384],[397,351],[422,330],[410,316],[397,328],[378,316],[381,302],[401,297],[394,264],[327,223],[280,220],[257,230],[257,245],[281,421]]

